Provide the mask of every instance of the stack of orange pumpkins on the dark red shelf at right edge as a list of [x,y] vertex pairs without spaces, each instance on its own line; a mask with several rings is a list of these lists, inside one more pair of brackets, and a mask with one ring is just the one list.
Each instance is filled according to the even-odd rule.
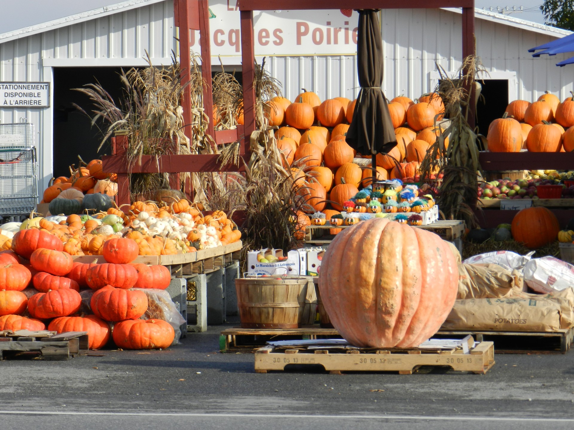
[[495,153],[574,151],[574,94],[562,102],[548,91],[533,103],[511,101],[488,127],[487,140]]

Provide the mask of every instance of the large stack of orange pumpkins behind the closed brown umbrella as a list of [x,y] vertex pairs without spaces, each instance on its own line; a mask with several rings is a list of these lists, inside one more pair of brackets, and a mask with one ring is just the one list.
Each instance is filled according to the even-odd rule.
[[[285,97],[274,97],[267,103],[269,125],[279,127],[275,133],[277,147],[307,202],[306,213],[331,210],[329,218],[342,210],[344,201],[372,181],[372,167],[354,163],[355,158],[362,156],[346,142],[355,103],[356,100],[345,97],[321,101],[311,91],[302,92],[293,103]],[[377,178],[414,177],[441,133],[434,124],[443,118],[443,100],[436,93],[423,95],[416,102],[408,97],[395,97],[389,103],[389,114],[398,145],[387,155],[377,155]],[[448,145],[448,139],[445,144]],[[311,222],[304,216],[298,214],[299,239],[304,225]]]

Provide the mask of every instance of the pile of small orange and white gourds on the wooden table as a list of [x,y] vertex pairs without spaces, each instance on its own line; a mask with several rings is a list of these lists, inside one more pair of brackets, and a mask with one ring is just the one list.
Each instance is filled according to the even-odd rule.
[[107,240],[127,237],[138,245],[139,255],[173,255],[215,248],[241,239],[241,232],[223,211],[204,216],[180,200],[158,208],[135,202],[125,214],[116,208],[94,216],[71,214],[36,217],[0,226],[0,247],[12,249],[14,234],[37,229],[61,240],[70,255],[102,255]]

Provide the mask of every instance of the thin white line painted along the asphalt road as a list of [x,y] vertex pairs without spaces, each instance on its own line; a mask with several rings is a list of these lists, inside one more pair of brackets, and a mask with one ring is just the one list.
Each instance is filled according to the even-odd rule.
[[288,413],[176,413],[176,412],[65,412],[65,411],[0,411],[0,415],[99,415],[99,416],[145,416],[145,417],[218,417],[218,418],[316,418],[329,420],[411,420],[411,421],[550,421],[574,423],[571,418],[524,418],[485,416],[424,416],[424,415],[301,415]]

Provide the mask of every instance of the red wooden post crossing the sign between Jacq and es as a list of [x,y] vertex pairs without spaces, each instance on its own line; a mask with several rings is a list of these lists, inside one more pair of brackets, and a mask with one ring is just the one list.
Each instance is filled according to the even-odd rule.
[[255,49],[253,40],[253,10],[241,11],[241,62],[243,69],[243,127],[245,130],[245,138],[243,138],[243,142],[239,148],[239,153],[249,154],[249,138],[251,136],[251,132],[255,130],[255,88],[253,87],[253,79],[255,77]]

